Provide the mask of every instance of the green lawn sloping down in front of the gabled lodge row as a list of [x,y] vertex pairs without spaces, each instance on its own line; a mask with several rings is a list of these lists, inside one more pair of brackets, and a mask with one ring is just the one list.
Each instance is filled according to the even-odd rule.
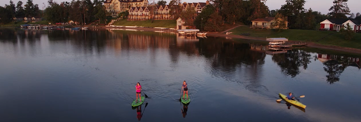
[[113,23],[114,26],[143,26],[143,27],[164,27],[175,28],[177,23],[175,20],[147,20],[147,21],[127,21],[127,19],[119,19]]

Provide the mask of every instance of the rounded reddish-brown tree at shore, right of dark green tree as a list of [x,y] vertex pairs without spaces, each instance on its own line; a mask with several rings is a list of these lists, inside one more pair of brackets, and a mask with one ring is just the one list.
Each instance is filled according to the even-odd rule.
[[218,12],[213,12],[207,22],[204,25],[204,30],[206,31],[219,31],[223,24],[222,16]]

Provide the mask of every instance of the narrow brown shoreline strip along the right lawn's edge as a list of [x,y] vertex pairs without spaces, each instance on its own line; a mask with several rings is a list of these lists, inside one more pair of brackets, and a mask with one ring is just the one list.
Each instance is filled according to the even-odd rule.
[[[218,32],[209,32],[209,33],[207,33],[207,35],[208,36],[215,36],[215,37],[230,37],[230,38],[236,38],[236,39],[248,39],[248,40],[266,41],[266,38],[264,38],[264,37],[226,35],[226,34],[218,33]],[[316,44],[314,42],[304,42],[304,41],[294,41],[294,40],[288,40],[288,42],[290,42],[290,43],[306,43],[307,47],[311,47],[311,48],[329,49],[329,50],[336,50],[336,51],[344,51],[344,52],[347,52],[347,53],[361,54],[361,49],[356,49],[356,48],[321,45],[321,44]]]

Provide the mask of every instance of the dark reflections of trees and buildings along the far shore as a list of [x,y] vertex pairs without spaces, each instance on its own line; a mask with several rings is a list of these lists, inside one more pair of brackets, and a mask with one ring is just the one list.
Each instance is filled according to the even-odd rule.
[[[12,44],[14,52],[27,49],[31,56],[39,55],[44,45],[49,45],[49,51],[61,50],[70,46],[64,53],[84,54],[85,57],[100,56],[114,52],[121,56],[122,51],[148,51],[156,57],[157,49],[167,49],[170,56],[170,67],[177,69],[181,53],[193,56],[204,56],[208,65],[206,70],[214,77],[225,78],[227,81],[237,81],[235,78],[241,67],[247,68],[249,80],[253,81],[251,87],[262,87],[258,76],[263,74],[265,64],[265,51],[267,46],[248,44],[227,40],[225,38],[196,36],[179,36],[175,33],[154,33],[146,31],[122,30],[22,30],[16,28],[0,29],[1,42]],[[48,42],[40,38],[45,37]],[[66,46],[60,47],[58,41],[66,41]],[[19,44],[18,44],[19,43]],[[20,48],[17,48],[20,46]],[[28,47],[28,48],[26,48]],[[113,51],[110,51],[113,50]],[[128,54],[128,53],[124,53]],[[280,71],[285,76],[296,77],[300,69],[307,69],[311,63],[312,53],[304,50],[288,50],[287,53],[271,56]],[[316,57],[324,65],[328,73],[327,82],[330,84],[339,81],[339,76],[348,66],[360,69],[359,58],[346,56],[317,54]],[[155,62],[155,58],[150,58]],[[264,89],[267,89],[264,87]]]

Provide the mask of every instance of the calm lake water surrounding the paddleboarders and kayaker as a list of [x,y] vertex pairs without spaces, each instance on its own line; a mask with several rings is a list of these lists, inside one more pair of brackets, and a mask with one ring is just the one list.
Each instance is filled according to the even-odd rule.
[[[269,55],[266,44],[144,31],[2,28],[0,120],[361,122],[361,57],[312,48]],[[189,105],[178,101],[184,80]],[[149,98],[132,108],[137,82]],[[277,103],[278,93],[287,92],[305,95],[299,100],[306,109]]]

